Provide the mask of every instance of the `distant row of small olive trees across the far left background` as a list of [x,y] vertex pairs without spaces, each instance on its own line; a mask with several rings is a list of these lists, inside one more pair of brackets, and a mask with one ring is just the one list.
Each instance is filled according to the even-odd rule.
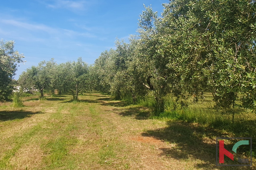
[[38,66],[28,68],[19,77],[18,83],[22,89],[40,90],[41,98],[44,90],[58,90],[61,92],[72,92],[73,100],[78,100],[78,93],[87,90],[88,64],[78,58],[78,61],[56,64],[52,59],[42,61]]

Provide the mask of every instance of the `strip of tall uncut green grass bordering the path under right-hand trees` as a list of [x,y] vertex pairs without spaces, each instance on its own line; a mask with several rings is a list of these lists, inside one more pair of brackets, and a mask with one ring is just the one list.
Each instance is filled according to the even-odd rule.
[[149,107],[152,112],[151,117],[155,119],[182,120],[224,129],[236,129],[250,119],[244,110],[214,108],[211,102],[193,103],[189,100],[176,100],[171,95],[165,96],[163,101],[164,111],[162,112],[159,112],[157,102],[152,96],[147,96],[140,104]]

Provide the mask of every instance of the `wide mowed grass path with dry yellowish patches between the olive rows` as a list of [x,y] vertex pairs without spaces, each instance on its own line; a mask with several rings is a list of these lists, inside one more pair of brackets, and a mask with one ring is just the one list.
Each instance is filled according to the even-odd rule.
[[35,98],[0,105],[0,170],[246,169],[215,166],[216,130],[148,119],[101,93]]

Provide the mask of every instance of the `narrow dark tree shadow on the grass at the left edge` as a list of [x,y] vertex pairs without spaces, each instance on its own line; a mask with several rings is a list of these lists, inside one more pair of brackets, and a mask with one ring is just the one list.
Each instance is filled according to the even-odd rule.
[[40,114],[41,111],[0,111],[0,121],[8,121],[8,120],[14,120],[14,119],[24,119],[26,117],[31,117],[31,115],[34,114]]

